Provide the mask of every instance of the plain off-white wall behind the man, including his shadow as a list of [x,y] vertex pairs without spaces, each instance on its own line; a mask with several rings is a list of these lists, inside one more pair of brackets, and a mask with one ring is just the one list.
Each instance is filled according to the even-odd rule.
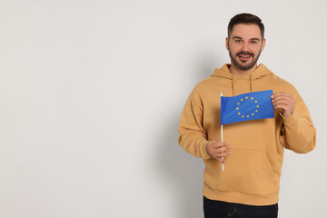
[[[0,1],[0,217],[203,217],[203,161],[177,144],[193,86],[229,62],[233,15],[259,15],[260,62],[318,132],[286,151],[280,217],[322,217],[327,2]],[[218,96],[217,96],[218,97]]]

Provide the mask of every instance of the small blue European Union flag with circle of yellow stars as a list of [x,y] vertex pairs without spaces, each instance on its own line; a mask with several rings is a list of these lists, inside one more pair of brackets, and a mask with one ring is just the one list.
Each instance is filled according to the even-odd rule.
[[273,118],[272,90],[221,97],[222,124]]

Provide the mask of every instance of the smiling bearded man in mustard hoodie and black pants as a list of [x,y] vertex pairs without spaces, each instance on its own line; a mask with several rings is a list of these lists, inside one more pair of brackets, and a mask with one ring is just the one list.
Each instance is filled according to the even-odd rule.
[[[261,19],[235,15],[226,38],[231,64],[197,84],[184,106],[178,142],[204,160],[205,218],[277,217],[284,148],[304,154],[315,147],[316,131],[301,96],[257,64],[264,45]],[[264,90],[273,91],[274,118],[225,124],[222,142],[220,94]]]

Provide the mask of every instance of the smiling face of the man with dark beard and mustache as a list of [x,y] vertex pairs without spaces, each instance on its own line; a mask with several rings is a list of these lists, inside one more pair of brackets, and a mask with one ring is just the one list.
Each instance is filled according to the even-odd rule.
[[258,25],[234,25],[230,38],[226,38],[231,62],[242,71],[256,67],[264,45]]

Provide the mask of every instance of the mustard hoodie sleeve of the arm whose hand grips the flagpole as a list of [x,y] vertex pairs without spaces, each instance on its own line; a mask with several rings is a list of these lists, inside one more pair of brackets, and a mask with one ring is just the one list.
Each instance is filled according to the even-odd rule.
[[183,108],[178,131],[178,143],[186,152],[203,159],[211,158],[206,150],[208,141],[203,129],[203,104],[194,90]]

